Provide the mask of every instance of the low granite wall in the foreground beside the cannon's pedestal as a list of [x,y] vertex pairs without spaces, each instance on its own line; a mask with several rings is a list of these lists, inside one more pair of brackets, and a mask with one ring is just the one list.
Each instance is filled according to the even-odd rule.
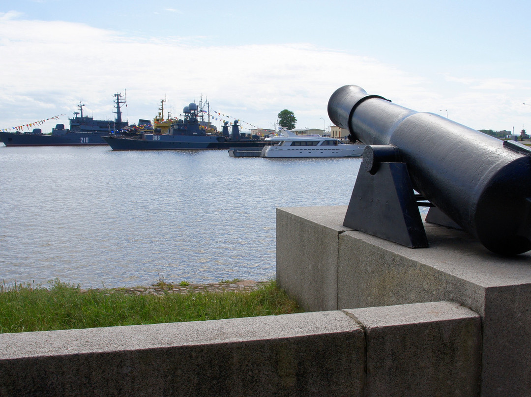
[[448,302],[0,334],[0,395],[470,396],[480,341]]

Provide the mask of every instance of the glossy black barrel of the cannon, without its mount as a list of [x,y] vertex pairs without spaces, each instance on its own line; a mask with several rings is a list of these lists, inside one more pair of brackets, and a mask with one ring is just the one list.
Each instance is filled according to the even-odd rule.
[[367,145],[396,146],[413,188],[490,251],[516,255],[531,249],[526,146],[407,109],[357,85],[337,89],[328,114]]

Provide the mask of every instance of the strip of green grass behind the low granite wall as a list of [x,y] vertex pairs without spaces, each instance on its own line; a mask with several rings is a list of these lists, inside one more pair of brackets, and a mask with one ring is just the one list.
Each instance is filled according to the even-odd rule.
[[[114,293],[112,293],[114,292]],[[301,312],[275,281],[250,292],[127,295],[54,280],[0,285],[0,333],[219,320]]]

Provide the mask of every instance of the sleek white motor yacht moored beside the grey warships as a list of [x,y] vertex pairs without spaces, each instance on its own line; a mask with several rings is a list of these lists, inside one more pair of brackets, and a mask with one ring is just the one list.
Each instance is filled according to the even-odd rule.
[[297,135],[283,128],[265,141],[260,157],[361,157],[365,149],[364,144],[347,144],[321,135]]

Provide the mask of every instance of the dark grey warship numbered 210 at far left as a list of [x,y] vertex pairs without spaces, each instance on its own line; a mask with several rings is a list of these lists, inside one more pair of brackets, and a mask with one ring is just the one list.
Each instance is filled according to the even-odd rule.
[[6,146],[92,146],[107,145],[102,138],[119,132],[128,125],[122,122],[121,106],[125,103],[122,94],[114,94],[116,111],[115,120],[95,120],[89,116],[83,116],[84,103],[79,102],[79,112],[74,112],[70,120],[70,128],[64,124],[57,124],[52,128],[51,134],[43,134],[40,128],[33,128],[30,132],[0,132],[0,141]]

